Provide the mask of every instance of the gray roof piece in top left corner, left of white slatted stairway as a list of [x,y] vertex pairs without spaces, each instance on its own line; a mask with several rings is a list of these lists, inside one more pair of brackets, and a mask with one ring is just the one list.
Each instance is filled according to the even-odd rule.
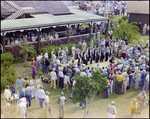
[[[17,12],[18,10],[6,3],[5,1],[1,1],[1,9],[4,9],[8,12]],[[2,13],[2,11],[1,11]]]

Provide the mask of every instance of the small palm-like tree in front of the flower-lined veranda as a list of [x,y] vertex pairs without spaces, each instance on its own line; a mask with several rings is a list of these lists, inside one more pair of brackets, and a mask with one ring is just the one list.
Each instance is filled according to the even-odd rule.
[[28,53],[36,53],[34,46],[29,46],[27,43],[25,45],[18,44],[20,48],[19,54],[23,54],[25,63],[27,62]]

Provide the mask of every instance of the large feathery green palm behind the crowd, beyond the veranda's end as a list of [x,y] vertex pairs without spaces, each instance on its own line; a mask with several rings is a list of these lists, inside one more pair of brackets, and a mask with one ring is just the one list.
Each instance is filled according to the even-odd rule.
[[131,43],[132,40],[138,40],[141,38],[138,30],[139,28],[136,26],[137,22],[128,23],[128,19],[125,21],[122,20],[119,24],[119,27],[114,24],[111,29],[113,30],[113,36],[119,37],[121,39],[125,39],[127,37],[128,42]]

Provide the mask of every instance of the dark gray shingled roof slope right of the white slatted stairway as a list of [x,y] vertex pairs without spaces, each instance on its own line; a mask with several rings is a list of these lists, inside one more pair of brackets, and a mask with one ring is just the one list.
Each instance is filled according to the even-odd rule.
[[62,1],[12,1],[20,7],[33,7],[36,12],[48,12],[50,14],[67,14],[69,9]]

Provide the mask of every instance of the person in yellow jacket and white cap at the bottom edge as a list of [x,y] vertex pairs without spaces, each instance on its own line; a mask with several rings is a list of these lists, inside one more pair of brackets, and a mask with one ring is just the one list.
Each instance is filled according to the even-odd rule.
[[137,107],[138,107],[138,103],[136,99],[133,99],[133,101],[130,104],[130,109],[129,109],[129,111],[131,112],[131,118],[135,117],[135,114],[137,113]]

